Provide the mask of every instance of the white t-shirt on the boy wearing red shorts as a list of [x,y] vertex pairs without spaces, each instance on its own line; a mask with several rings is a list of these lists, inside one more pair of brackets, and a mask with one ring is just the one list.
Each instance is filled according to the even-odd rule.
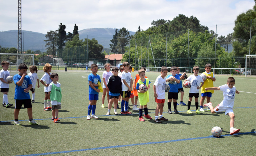
[[156,86],[156,93],[157,93],[157,99],[165,99],[165,77],[162,78],[161,75],[159,75],[154,83],[154,86]]

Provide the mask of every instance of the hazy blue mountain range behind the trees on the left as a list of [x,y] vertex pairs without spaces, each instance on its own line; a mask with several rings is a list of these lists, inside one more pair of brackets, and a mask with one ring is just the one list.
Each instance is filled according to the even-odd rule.
[[[95,38],[99,44],[101,44],[104,48],[110,48],[111,42],[113,39],[113,35],[115,34],[114,28],[89,28],[78,31],[79,38],[83,39],[92,39]],[[129,31],[130,35],[134,35],[135,32]],[[46,49],[44,46],[46,43],[45,37],[46,34],[26,31],[22,30],[22,49],[26,50],[40,50],[42,51]],[[0,32],[0,46],[3,48],[17,48],[18,44],[18,30],[8,30]]]

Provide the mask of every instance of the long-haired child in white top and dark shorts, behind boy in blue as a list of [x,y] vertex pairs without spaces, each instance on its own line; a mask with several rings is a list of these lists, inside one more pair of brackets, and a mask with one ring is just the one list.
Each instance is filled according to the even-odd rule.
[[37,66],[30,66],[29,67],[29,71],[30,73],[28,73],[27,75],[30,77],[30,80],[32,82],[32,88],[30,89],[30,91],[32,92],[32,103],[34,103],[34,99],[35,99],[35,88],[36,88],[36,84],[37,88],[39,88],[39,79],[38,79],[38,75],[37,75]]

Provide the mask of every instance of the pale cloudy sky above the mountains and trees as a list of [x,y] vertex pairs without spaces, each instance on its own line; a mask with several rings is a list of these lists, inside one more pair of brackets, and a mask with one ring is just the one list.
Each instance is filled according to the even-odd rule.
[[[87,28],[122,28],[137,31],[152,21],[173,20],[179,14],[196,17],[217,34],[233,32],[237,15],[252,9],[254,0],[22,0],[22,30],[66,32]],[[0,31],[18,29],[18,0],[0,0]],[[78,32],[79,33],[79,32]]]

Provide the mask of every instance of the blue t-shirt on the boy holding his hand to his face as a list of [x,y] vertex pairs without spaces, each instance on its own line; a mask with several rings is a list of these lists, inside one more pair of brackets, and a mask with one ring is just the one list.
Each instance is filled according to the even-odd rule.
[[18,86],[16,83],[19,82],[20,79],[21,79],[21,75],[19,75],[19,74],[16,74],[13,76],[13,81],[16,85],[14,99],[18,99],[18,100],[30,99],[29,92],[27,92],[27,93],[24,92],[24,89],[28,88],[28,85],[32,85],[30,77],[28,75],[26,75],[24,77],[22,85]]

